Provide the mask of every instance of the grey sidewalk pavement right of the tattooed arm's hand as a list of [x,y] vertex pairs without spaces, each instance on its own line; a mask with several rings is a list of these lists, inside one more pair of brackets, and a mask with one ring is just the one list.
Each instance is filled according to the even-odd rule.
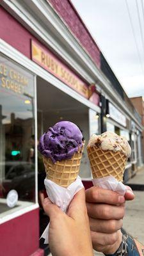
[[124,228],[144,244],[144,168],[141,168],[127,183],[133,189],[135,198],[126,203]]

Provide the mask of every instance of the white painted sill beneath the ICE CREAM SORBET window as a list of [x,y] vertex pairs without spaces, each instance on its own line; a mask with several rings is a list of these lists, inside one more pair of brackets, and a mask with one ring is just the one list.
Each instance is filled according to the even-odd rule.
[[6,216],[4,216],[3,218],[0,219],[0,225],[2,223],[6,222],[6,221],[17,218],[17,217],[21,216],[22,214],[33,211],[33,210],[38,209],[38,208],[39,208],[38,204],[33,204],[33,205],[28,206],[28,207],[25,207],[24,209],[20,209],[19,211],[15,211],[11,214],[8,214],[8,215],[6,215]]

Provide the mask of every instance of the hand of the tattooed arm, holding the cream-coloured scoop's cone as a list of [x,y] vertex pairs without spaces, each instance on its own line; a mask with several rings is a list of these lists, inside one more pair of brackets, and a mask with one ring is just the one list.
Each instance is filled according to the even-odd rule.
[[113,254],[122,243],[125,200],[133,200],[132,189],[127,186],[125,196],[114,191],[92,187],[86,190],[86,207],[90,219],[93,249]]

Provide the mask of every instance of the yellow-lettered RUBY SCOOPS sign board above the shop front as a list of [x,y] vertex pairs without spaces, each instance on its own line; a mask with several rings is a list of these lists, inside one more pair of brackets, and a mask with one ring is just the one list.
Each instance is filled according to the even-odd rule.
[[89,98],[88,85],[85,84],[72,70],[67,68],[54,54],[31,40],[31,58],[38,65],[58,77],[63,83],[76,90],[86,99]]

